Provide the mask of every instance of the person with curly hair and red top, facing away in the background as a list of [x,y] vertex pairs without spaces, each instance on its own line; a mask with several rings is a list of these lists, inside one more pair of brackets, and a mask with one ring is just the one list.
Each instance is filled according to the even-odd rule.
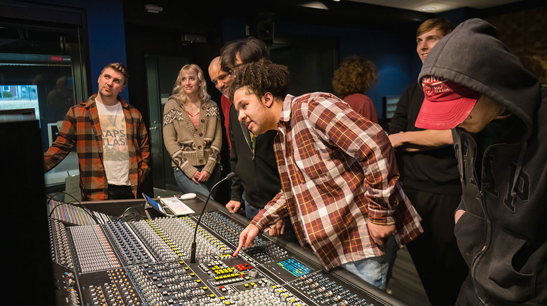
[[334,71],[333,89],[336,96],[350,104],[357,113],[378,123],[373,101],[363,95],[377,79],[376,66],[357,55],[348,56]]

